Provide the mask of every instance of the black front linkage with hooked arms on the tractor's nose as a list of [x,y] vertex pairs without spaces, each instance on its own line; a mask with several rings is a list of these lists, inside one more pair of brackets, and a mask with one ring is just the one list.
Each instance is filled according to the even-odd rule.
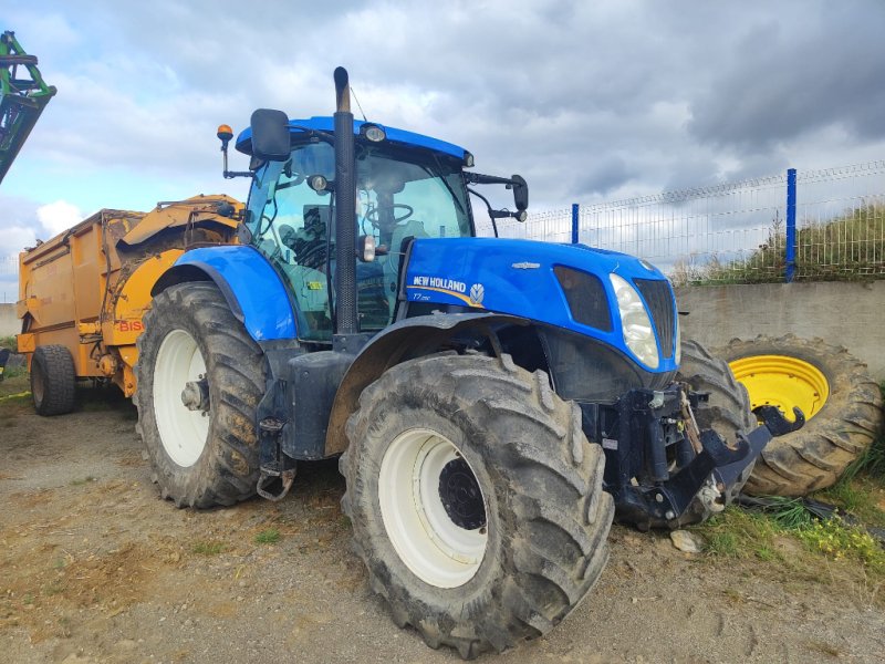
[[693,408],[707,396],[673,383],[632,390],[614,405],[582,404],[584,433],[605,450],[605,489],[614,496],[617,520],[641,530],[675,528],[721,511],[772,432],[798,428],[779,412],[766,413],[764,425],[738,432],[730,447],[696,424]]

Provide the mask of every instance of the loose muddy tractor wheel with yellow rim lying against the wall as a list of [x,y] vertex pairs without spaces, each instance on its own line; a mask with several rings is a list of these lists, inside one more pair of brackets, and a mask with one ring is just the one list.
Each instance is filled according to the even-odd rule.
[[866,365],[841,346],[792,334],[732,340],[720,353],[750,395],[753,408],[777,406],[798,432],[773,438],[745,491],[804,496],[835,484],[872,443],[882,425],[882,393]]

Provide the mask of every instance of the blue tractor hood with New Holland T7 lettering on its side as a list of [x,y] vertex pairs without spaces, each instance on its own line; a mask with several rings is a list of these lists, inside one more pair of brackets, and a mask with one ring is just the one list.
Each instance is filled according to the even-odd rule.
[[[583,270],[600,278],[610,308],[615,312],[611,332],[572,319],[565,293],[553,272],[556,266]],[[666,373],[677,369],[675,352],[666,353],[670,355],[666,359],[658,347],[660,364],[652,370],[627,349],[621,319],[616,314],[614,288],[608,279],[610,273],[615,273],[628,282],[633,279],[666,281],[657,268],[646,266],[648,263],[632,256],[585,245],[499,238],[419,239],[412,247],[406,270],[406,298],[410,302],[460,304],[556,325],[612,345],[647,371]],[[425,277],[429,279],[425,280]],[[676,315],[674,300],[674,319]]]

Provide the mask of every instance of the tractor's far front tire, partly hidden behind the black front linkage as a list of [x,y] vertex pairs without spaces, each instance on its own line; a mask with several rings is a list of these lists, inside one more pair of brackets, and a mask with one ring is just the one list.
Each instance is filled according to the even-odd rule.
[[[695,409],[698,427],[715,430],[726,443],[736,447],[737,433],[749,434],[757,427],[747,390],[735,378],[725,360],[715,356],[698,342],[685,341],[681,349],[683,356],[676,380],[688,383],[695,392],[706,392],[709,395],[707,403]],[[741,473],[723,496],[726,505],[731,505],[738,498],[752,470],[753,464],[750,464]],[[708,516],[710,515],[705,513],[701,520]]]

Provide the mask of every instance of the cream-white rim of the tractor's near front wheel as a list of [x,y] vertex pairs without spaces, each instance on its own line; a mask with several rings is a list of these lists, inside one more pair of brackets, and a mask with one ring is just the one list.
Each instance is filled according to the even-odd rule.
[[440,474],[459,456],[445,436],[409,429],[391,443],[378,475],[381,515],[394,549],[415,575],[436,588],[458,588],[472,579],[488,542],[485,525],[458,526],[439,496]]

